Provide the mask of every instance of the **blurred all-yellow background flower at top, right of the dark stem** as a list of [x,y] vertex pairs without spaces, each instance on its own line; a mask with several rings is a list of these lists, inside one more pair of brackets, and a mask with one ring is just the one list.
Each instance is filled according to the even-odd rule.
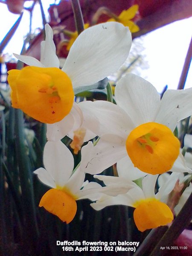
[[129,9],[123,10],[118,17],[111,18],[108,21],[118,21],[122,23],[124,26],[128,26],[131,33],[137,32],[140,30],[140,28],[133,21],[131,21],[131,19],[135,17],[138,9],[139,6],[135,4],[131,6]]

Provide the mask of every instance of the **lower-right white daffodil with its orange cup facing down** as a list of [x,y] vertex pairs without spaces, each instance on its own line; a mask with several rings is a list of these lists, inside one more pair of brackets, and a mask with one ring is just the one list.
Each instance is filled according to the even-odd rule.
[[[134,221],[140,231],[169,224],[173,220],[171,209],[160,199],[168,195],[175,186],[179,174],[172,173],[169,179],[159,188],[157,194],[154,193],[158,175],[147,175],[142,180],[142,189],[136,183],[127,181],[130,188],[126,194],[109,196],[103,195],[96,203],[90,204],[93,209],[100,210],[110,205],[126,205],[134,207]],[[122,177],[112,177],[105,175],[94,175],[108,183],[121,183]],[[126,182],[124,178],[123,183]]]

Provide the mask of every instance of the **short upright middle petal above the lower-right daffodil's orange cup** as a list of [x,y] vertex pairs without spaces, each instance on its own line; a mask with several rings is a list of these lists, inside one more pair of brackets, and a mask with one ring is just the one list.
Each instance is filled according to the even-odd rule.
[[155,196],[154,189],[157,181],[157,175],[146,175],[142,180],[142,189],[145,198],[153,198]]

